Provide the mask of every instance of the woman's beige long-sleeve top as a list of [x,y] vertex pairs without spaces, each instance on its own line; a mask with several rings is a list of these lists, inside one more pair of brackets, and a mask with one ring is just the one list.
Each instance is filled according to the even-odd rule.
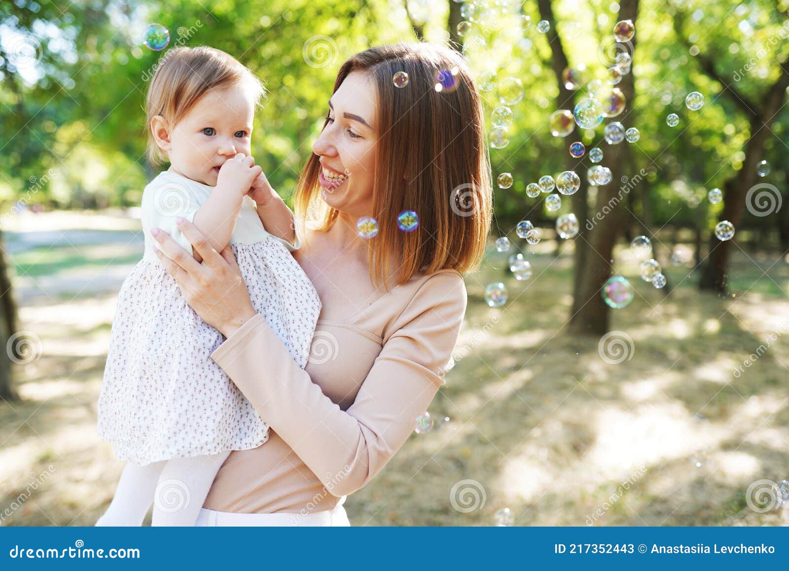
[[[324,302],[321,317],[327,309]],[[266,419],[270,437],[230,453],[204,507],[317,512],[365,486],[443,384],[465,312],[458,272],[414,276],[346,319],[319,319],[304,370],[260,314],[249,319],[211,359]]]

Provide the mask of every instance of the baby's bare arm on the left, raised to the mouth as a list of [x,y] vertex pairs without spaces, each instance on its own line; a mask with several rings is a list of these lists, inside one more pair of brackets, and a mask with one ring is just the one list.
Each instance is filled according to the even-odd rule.
[[[262,172],[260,167],[255,166],[251,156],[242,153],[222,164],[211,196],[197,209],[193,218],[193,224],[203,232],[217,252],[221,252],[230,242],[244,195],[249,191],[252,181]],[[196,250],[193,256],[197,261],[203,261]]]

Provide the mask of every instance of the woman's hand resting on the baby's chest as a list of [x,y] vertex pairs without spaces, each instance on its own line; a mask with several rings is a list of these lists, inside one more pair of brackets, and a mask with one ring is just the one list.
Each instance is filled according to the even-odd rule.
[[161,247],[156,255],[196,314],[229,337],[256,314],[230,245],[219,254],[189,220],[179,221],[178,229],[203,257],[202,263],[161,228],[151,228]]

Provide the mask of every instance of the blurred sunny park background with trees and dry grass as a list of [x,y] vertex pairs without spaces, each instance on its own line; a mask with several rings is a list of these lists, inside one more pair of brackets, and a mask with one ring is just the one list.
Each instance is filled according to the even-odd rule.
[[114,493],[95,405],[159,58],[210,45],[264,79],[252,149],[290,203],[340,64],[417,40],[477,77],[495,225],[447,385],[351,523],[787,524],[787,9],[0,2],[0,525],[92,525]]

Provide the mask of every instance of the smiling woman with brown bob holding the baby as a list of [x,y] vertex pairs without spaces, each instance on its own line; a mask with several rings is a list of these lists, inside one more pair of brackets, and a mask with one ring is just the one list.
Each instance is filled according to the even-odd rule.
[[[271,427],[264,445],[230,454],[198,525],[350,525],[347,494],[443,384],[466,311],[459,272],[479,265],[491,224],[483,125],[466,63],[447,47],[375,47],[342,65],[294,198],[294,256],[323,304],[305,370],[252,309],[229,248],[212,250],[188,221],[202,264],[155,237],[189,305],[226,336],[211,359]],[[406,210],[416,230],[398,227]],[[357,233],[362,216],[377,220],[375,237]]]

